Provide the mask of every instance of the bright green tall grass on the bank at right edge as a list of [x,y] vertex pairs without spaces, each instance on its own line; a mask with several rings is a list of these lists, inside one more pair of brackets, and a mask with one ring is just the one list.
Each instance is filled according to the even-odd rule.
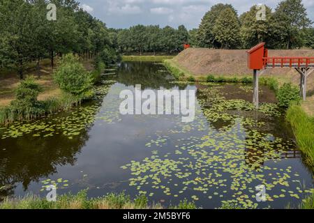
[[292,125],[297,144],[304,153],[306,163],[314,169],[314,119],[297,104],[287,109],[286,118]]

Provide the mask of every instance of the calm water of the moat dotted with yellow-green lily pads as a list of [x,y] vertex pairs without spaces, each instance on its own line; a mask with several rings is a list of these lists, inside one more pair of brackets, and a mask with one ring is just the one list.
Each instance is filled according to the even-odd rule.
[[[112,72],[112,71],[110,71]],[[188,199],[202,208],[223,201],[258,208],[297,204],[313,188],[291,128],[279,109],[251,111],[251,87],[174,82],[158,63],[124,62],[106,75],[95,102],[31,123],[0,127],[0,196],[58,194],[89,188],[90,197],[126,191],[168,206]],[[121,116],[119,93],[195,89],[193,123],[180,116]],[[276,102],[267,87],[262,102]],[[280,111],[279,111],[280,112]],[[257,203],[257,185],[267,201]]]

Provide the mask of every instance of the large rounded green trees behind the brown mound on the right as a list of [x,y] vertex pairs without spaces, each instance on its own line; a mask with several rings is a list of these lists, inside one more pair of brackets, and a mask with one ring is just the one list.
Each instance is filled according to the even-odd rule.
[[[276,10],[253,6],[238,16],[230,4],[218,3],[202,18],[199,29],[190,31],[192,45],[218,49],[247,49],[262,41],[272,49],[314,48],[313,23],[301,0],[285,0]],[[257,20],[260,17],[260,20]]]

